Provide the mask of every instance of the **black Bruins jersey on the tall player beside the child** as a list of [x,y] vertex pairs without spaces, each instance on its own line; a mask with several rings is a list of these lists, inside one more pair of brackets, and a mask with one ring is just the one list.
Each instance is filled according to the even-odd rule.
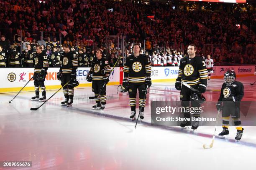
[[180,60],[177,81],[186,82],[188,85],[207,85],[207,69],[205,61],[200,56],[194,58],[183,57]]

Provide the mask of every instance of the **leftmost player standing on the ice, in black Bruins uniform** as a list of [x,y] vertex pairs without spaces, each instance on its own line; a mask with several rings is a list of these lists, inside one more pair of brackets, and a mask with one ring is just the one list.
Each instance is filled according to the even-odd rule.
[[[31,100],[39,100],[39,102],[46,101],[46,92],[44,80],[47,74],[47,69],[49,67],[49,62],[47,60],[47,56],[44,52],[42,52],[42,47],[40,45],[36,46],[36,55],[34,57],[35,66],[34,66],[34,85],[36,95],[31,97]],[[42,92],[42,97],[39,98],[39,86]]]

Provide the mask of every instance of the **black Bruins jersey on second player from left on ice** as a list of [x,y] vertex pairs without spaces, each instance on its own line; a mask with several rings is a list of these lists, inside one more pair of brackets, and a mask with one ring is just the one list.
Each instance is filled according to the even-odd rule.
[[72,72],[76,72],[78,66],[77,55],[78,52],[76,51],[69,51],[68,53],[63,52],[59,61],[59,72],[62,74],[71,74]]

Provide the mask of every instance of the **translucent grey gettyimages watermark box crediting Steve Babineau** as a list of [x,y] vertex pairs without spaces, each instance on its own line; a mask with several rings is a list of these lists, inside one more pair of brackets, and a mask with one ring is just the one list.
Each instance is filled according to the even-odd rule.
[[[256,125],[255,101],[225,101],[222,103],[219,117],[216,102],[206,101],[200,107],[182,107],[181,101],[151,101],[151,124],[164,126],[179,126],[183,121],[199,121],[201,126],[223,125],[222,117],[229,117],[229,125],[235,125],[241,120],[244,126]],[[190,117],[184,117],[184,112]]]

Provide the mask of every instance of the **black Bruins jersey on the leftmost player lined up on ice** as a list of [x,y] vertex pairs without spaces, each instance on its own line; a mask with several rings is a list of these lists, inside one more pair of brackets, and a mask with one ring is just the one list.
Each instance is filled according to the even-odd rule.
[[35,60],[35,66],[34,66],[35,72],[41,72],[42,68],[44,68],[44,70],[48,69],[49,62],[47,60],[47,55],[44,52],[41,52],[40,54],[36,53],[34,60]]

